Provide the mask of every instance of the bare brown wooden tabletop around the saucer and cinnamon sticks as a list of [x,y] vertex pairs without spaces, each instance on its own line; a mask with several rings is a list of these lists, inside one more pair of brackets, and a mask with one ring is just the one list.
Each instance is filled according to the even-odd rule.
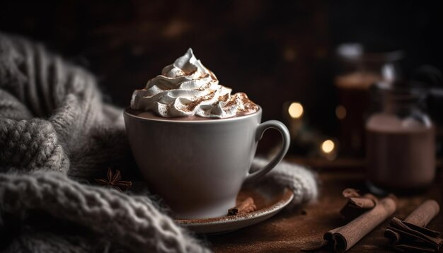
[[[441,174],[437,175],[435,184],[425,192],[398,196],[398,207],[394,216],[403,220],[426,199],[435,199],[441,206]],[[316,246],[321,242],[323,233],[346,224],[339,216],[340,208],[347,201],[342,196],[343,189],[364,189],[364,177],[359,166],[348,167],[346,170],[323,169],[319,171],[319,178],[321,194],[316,203],[292,210],[285,208],[263,223],[224,235],[206,236],[204,239],[214,252],[299,252],[300,249]],[[387,223],[389,219],[348,252],[393,252],[386,247],[387,241],[383,237]],[[439,213],[427,228],[443,231],[442,214]]]

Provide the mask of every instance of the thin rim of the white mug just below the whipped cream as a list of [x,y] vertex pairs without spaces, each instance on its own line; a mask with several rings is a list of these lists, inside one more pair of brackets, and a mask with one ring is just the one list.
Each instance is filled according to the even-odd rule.
[[237,120],[241,120],[241,119],[248,119],[251,117],[255,117],[258,114],[262,113],[262,107],[260,107],[260,105],[258,106],[258,110],[256,112],[250,113],[250,114],[245,114],[245,115],[241,115],[241,116],[234,116],[234,117],[229,117],[229,118],[223,118],[223,119],[218,119],[218,118],[208,118],[207,120],[176,120],[176,118],[178,117],[170,117],[170,118],[164,118],[164,119],[148,119],[145,117],[139,117],[137,115],[134,115],[130,112],[128,112],[128,110],[131,109],[131,107],[126,107],[123,110],[123,114],[127,117],[132,117],[133,119],[138,119],[138,120],[142,120],[142,121],[148,121],[148,122],[170,122],[170,123],[177,123],[177,124],[214,124],[217,122],[233,122],[233,121],[237,121]]

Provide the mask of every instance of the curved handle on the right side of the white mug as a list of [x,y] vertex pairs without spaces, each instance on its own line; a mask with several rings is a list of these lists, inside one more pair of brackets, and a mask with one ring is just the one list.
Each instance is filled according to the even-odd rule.
[[269,120],[267,122],[259,124],[257,130],[255,131],[255,141],[260,141],[265,131],[270,128],[277,129],[278,131],[280,131],[280,134],[282,134],[282,139],[283,139],[282,149],[278,151],[277,155],[275,155],[275,157],[272,158],[272,160],[270,160],[270,162],[267,163],[265,167],[262,167],[260,170],[256,170],[255,172],[252,173],[248,172],[248,175],[246,175],[245,183],[256,180],[258,179],[258,177],[261,177],[270,170],[272,170],[272,168],[275,167],[275,165],[280,163],[280,161],[284,158],[284,155],[286,155],[287,150],[289,149],[289,142],[290,142],[289,131],[282,122],[279,122],[277,120]]

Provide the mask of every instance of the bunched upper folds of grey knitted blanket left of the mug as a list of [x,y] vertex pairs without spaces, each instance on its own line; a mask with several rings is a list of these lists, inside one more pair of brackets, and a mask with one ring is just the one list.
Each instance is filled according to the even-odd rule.
[[[88,179],[131,159],[121,111],[102,102],[96,78],[37,43],[0,34],[0,101],[0,167],[53,162],[47,167]],[[17,151],[40,155],[18,164]]]

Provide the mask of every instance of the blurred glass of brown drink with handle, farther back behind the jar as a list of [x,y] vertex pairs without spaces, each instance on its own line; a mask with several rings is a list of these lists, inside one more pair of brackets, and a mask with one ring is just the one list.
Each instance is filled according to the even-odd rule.
[[360,44],[344,44],[337,49],[335,88],[340,124],[342,155],[363,157],[364,113],[370,104],[369,87],[379,81],[391,82],[401,76],[403,52],[364,52]]

